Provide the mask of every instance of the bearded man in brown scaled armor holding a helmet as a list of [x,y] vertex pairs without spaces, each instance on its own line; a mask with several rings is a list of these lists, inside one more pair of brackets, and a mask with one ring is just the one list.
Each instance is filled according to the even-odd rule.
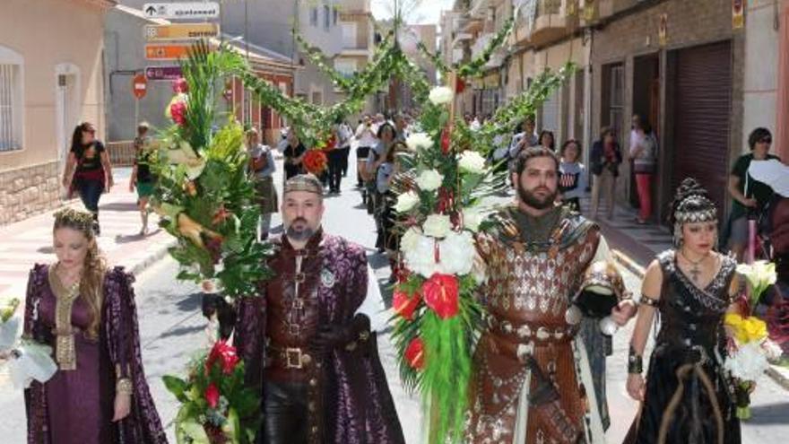
[[[473,361],[470,443],[604,442],[605,336],[599,319],[573,302],[587,269],[610,260],[610,251],[593,222],[554,204],[558,169],[545,148],[521,152],[512,173],[517,202],[496,215],[497,231],[478,238],[489,320]],[[603,269],[595,285],[611,283],[610,296],[598,299],[616,293],[603,306],[624,325],[635,305],[615,268]]]

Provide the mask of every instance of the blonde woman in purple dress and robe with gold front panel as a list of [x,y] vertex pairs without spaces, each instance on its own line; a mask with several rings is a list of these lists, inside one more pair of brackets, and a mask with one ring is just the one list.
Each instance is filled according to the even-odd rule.
[[29,444],[167,442],[143,374],[134,278],[108,269],[93,217],[56,213],[56,264],[30,271],[24,335],[52,346],[57,372],[25,390]]

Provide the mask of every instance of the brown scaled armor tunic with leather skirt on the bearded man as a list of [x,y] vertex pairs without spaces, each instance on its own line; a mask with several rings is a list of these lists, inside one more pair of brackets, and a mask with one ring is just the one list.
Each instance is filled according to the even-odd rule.
[[[555,382],[560,410],[577,431],[586,434],[585,411],[592,401],[585,393],[594,398],[595,390],[591,378],[582,381],[585,350],[576,341],[586,321],[568,322],[567,313],[602,236],[594,224],[566,208],[537,220],[516,208],[502,217],[510,232],[505,229],[497,237],[479,239],[488,266],[483,297],[490,328],[474,355],[467,440],[474,444],[563,442],[556,427],[546,423],[526,399],[536,381],[525,357],[533,356]],[[588,321],[596,327],[596,322]],[[599,344],[592,351],[604,360]],[[589,376],[588,367],[584,368]],[[597,421],[602,433],[599,417]]]

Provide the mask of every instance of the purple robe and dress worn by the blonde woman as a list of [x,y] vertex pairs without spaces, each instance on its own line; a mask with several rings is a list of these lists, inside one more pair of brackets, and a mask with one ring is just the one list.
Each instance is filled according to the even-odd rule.
[[[75,334],[77,370],[57,370],[46,383],[33,381],[25,390],[29,444],[167,442],[143,373],[133,282],[122,267],[109,270],[98,340]],[[54,347],[55,304],[48,266],[36,265],[28,281],[24,334]],[[86,306],[75,300],[72,325],[84,330],[88,321]],[[132,380],[134,393],[130,414],[111,422],[117,366]]]

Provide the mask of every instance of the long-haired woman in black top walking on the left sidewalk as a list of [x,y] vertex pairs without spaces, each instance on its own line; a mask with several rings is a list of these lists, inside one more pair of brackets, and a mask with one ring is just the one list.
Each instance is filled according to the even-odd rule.
[[99,140],[96,139],[96,127],[89,122],[82,122],[74,128],[71,152],[65,162],[63,186],[80,195],[82,205],[93,214],[93,229],[100,234],[99,199],[105,189],[113,186],[112,166],[109,155]]

